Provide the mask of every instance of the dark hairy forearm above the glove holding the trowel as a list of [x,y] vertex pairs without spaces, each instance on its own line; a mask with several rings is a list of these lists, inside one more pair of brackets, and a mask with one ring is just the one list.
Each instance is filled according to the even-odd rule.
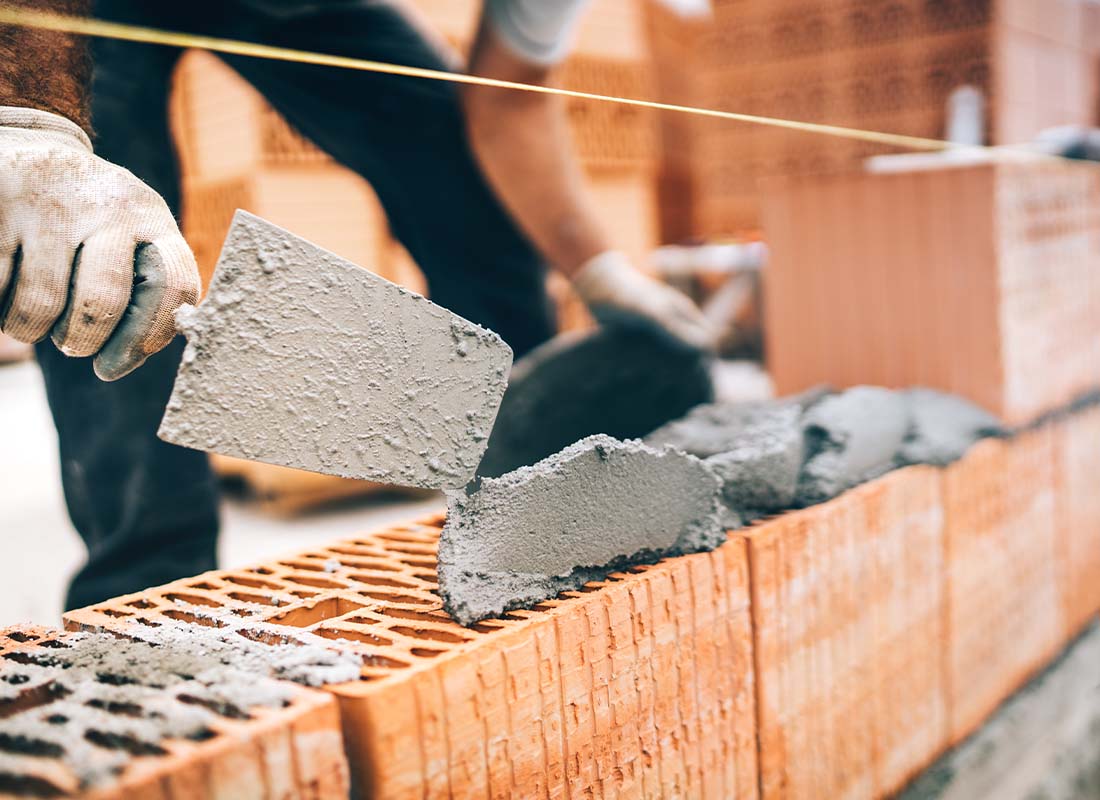
[[[7,4],[85,14],[88,1],[7,0]],[[52,111],[89,130],[89,74],[81,36],[0,25],[0,106]]]

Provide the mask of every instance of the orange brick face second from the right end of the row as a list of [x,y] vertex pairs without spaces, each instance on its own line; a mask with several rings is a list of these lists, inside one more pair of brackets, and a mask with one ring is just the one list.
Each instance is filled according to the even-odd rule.
[[1069,638],[1054,445],[1049,426],[1011,442],[982,441],[944,472],[953,743],[972,733]]

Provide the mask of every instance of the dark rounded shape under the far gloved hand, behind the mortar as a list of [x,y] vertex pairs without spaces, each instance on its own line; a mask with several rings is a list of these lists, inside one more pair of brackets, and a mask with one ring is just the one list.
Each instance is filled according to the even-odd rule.
[[714,398],[711,361],[648,327],[556,337],[516,362],[477,474],[497,478],[594,434],[646,436]]

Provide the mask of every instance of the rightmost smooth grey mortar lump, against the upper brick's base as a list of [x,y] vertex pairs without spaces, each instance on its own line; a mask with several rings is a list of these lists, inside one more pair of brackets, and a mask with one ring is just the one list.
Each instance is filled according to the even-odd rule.
[[979,439],[1004,436],[992,414],[953,394],[931,388],[903,393],[909,405],[910,429],[898,453],[898,463],[946,467],[959,460]]

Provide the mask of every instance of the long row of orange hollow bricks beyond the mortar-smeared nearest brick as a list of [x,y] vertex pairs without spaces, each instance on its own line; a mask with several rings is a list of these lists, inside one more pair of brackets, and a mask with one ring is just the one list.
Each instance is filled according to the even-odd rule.
[[362,796],[884,797],[1100,612],[1098,437],[1093,407],[472,628],[439,517],[66,624],[359,654],[329,690]]

